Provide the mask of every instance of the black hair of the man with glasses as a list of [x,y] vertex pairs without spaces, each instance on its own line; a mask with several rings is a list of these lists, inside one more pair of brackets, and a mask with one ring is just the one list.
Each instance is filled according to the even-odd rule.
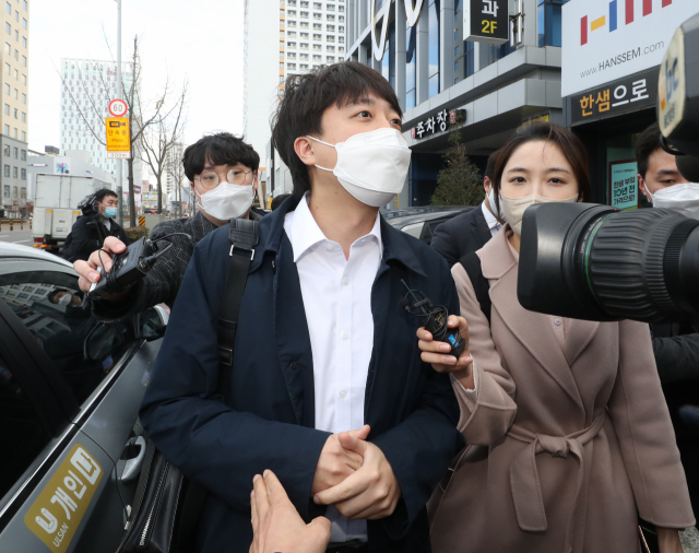
[[182,156],[185,175],[190,183],[196,175],[201,175],[208,162],[214,165],[242,164],[252,170],[260,168],[260,156],[250,144],[244,142],[242,137],[235,137],[230,132],[217,132],[199,139],[187,146]]

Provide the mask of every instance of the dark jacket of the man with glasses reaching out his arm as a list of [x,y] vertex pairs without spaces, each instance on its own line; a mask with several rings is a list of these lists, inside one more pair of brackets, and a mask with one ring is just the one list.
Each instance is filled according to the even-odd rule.
[[[252,209],[250,216],[260,220],[263,211]],[[193,217],[173,219],[158,223],[151,231],[151,240],[159,240],[158,248],[169,248],[161,256],[153,268],[119,298],[118,302],[92,302],[92,313],[99,320],[120,320],[157,304],[173,307],[177,292],[185,278],[194,246],[217,227],[201,211]],[[181,234],[189,234],[192,239]],[[173,235],[166,238],[166,236]]]

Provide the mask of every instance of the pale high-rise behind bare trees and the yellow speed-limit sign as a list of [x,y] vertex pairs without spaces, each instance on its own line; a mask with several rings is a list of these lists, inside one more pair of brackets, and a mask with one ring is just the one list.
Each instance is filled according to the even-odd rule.
[[[92,163],[108,173],[116,174],[117,160],[107,158],[105,117],[110,117],[108,106],[117,94],[117,66],[114,61],[93,59],[61,59],[61,150],[86,150]],[[129,91],[132,63],[121,63],[123,87]],[[97,134],[99,140],[95,137]],[[102,141],[102,142],[100,142]],[[126,165],[126,164],[125,164]],[[134,173],[137,163],[134,163]],[[140,167],[140,162],[138,163]],[[126,189],[126,167],[123,170]],[[140,170],[139,170],[140,173]],[[140,183],[134,175],[134,183]]]

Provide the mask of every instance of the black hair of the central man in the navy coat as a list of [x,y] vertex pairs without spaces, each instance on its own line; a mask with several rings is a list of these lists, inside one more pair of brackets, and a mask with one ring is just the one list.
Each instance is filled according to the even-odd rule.
[[369,93],[383,98],[403,117],[391,84],[381,73],[356,61],[321,66],[286,79],[284,99],[272,119],[272,145],[292,173],[295,196],[310,190],[308,167],[294,151],[296,139],[322,133],[321,119],[329,107],[342,108]]

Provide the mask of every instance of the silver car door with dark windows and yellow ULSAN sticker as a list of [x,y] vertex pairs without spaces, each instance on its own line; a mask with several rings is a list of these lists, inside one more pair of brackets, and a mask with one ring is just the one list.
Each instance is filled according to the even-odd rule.
[[145,452],[138,409],[158,349],[84,309],[70,266],[2,259],[0,551],[116,551]]

